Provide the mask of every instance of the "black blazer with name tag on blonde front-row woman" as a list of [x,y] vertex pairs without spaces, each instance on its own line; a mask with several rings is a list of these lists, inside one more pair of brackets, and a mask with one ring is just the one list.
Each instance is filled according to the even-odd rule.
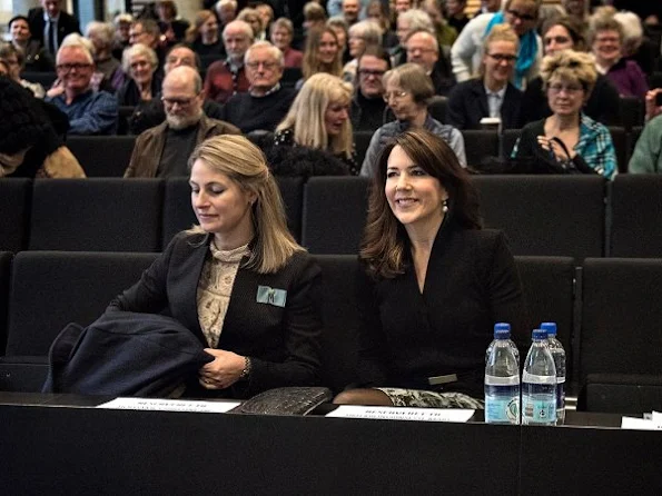
[[[197,308],[198,281],[210,257],[209,235],[180,232],[140,280],[109,306],[109,310],[166,313],[187,327],[206,347]],[[241,262],[244,264],[246,259]],[[251,359],[248,384],[236,383],[218,396],[244,398],[285,386],[314,386],[318,381],[322,271],[307,252],[297,252],[276,274],[258,274],[241,266],[218,341]],[[284,307],[258,302],[259,286],[287,291]],[[205,396],[190,383],[187,395]]]

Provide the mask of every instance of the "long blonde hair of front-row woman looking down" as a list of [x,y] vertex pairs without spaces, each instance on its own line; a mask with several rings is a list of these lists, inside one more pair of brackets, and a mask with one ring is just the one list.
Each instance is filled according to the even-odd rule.
[[[255,238],[246,267],[259,274],[273,274],[285,266],[295,252],[304,251],[287,229],[280,190],[259,148],[243,136],[221,135],[196,147],[188,159],[189,171],[197,160],[204,161],[215,172],[226,175],[243,191],[256,196],[251,211]],[[200,226],[194,226],[187,234],[206,231]]]

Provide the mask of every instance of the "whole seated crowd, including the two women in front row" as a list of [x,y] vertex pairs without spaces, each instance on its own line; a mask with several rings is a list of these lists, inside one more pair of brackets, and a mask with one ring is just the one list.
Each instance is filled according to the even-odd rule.
[[[649,90],[614,12],[569,10],[541,26],[540,0],[473,19],[461,1],[398,1],[394,16],[362,3],[330,0],[329,20],[308,4],[295,26],[260,1],[237,12],[220,0],[192,23],[159,1],[144,18],[119,16],[113,34],[97,22],[82,37],[59,1],[42,0],[10,21],[0,177],[85,177],[66,136],[113,135],[131,107],[125,178],[189,179],[198,224],[108,307],[167,309],[199,339],[209,357],[189,396],[318,383],[322,274],[287,229],[276,182],[286,168],[373,185],[359,381],[336,403],[466,408],[483,407],[493,325],[511,323],[518,345],[531,327],[505,236],[482,227],[462,131],[491,119],[521,129],[513,161],[613,179],[605,126],[621,97],[640,98],[648,123],[631,171],[661,171],[662,89]],[[28,66],[55,68],[43,96],[22,77]],[[372,135],[363,163],[356,132]],[[438,376],[455,379],[429,381]]]

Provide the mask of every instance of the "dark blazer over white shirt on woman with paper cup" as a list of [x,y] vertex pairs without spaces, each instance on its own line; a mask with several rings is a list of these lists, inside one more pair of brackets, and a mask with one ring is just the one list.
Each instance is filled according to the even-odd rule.
[[[508,82],[501,106],[503,129],[520,129],[522,91]],[[490,117],[487,93],[482,79],[470,79],[458,83],[448,96],[446,123],[457,129],[481,129],[481,119]]]

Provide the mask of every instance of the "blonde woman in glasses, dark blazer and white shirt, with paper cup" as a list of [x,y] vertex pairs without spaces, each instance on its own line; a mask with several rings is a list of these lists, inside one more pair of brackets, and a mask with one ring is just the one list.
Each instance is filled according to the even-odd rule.
[[501,119],[503,129],[522,127],[522,92],[511,83],[520,39],[507,24],[495,26],[483,43],[481,77],[451,90],[446,122],[457,129],[481,129],[481,119]]

